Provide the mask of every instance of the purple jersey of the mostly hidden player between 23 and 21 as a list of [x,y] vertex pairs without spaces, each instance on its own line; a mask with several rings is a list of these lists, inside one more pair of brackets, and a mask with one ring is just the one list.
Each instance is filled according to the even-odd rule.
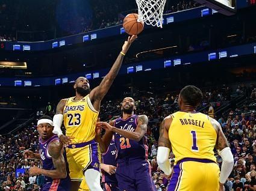
[[[116,166],[116,145],[114,144],[114,139],[111,140],[107,152],[102,154],[101,159],[102,163],[106,165]],[[117,183],[116,175],[110,175],[102,171],[102,183]]]

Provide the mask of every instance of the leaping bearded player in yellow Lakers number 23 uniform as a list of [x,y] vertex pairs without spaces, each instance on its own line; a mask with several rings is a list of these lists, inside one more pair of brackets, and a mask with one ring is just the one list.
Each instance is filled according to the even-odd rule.
[[[91,191],[102,190],[98,143],[95,142],[96,121],[101,100],[110,89],[122,65],[125,53],[136,38],[137,36],[133,35],[125,41],[122,51],[99,86],[90,91],[89,81],[85,77],[78,77],[73,85],[75,97],[60,100],[57,105],[53,132],[58,135],[66,147],[72,191],[79,189],[83,175]],[[66,136],[60,129],[63,119]]]

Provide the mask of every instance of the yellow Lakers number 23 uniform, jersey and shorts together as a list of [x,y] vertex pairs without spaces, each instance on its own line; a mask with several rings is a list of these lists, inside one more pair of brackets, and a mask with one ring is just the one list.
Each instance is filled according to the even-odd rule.
[[73,99],[67,100],[63,111],[66,136],[74,137],[66,148],[67,161],[71,180],[82,181],[89,166],[99,171],[98,143],[94,140],[99,112],[93,108],[89,95],[79,101]]

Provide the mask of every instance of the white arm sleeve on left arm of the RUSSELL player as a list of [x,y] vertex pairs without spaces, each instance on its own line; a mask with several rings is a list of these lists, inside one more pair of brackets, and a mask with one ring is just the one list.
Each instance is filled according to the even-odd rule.
[[169,148],[158,147],[157,163],[160,169],[164,171],[164,174],[166,175],[170,175],[172,173],[172,169],[170,168],[169,154],[170,154]]

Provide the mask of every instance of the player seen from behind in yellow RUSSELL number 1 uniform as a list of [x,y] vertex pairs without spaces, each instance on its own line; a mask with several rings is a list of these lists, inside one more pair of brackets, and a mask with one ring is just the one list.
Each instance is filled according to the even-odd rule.
[[[233,155],[220,124],[196,112],[201,100],[200,89],[192,85],[184,87],[178,99],[180,111],[161,123],[157,163],[164,174],[172,174],[168,191],[223,190],[233,169]],[[214,147],[223,160],[220,175]],[[173,172],[168,160],[170,150],[175,155]]]

